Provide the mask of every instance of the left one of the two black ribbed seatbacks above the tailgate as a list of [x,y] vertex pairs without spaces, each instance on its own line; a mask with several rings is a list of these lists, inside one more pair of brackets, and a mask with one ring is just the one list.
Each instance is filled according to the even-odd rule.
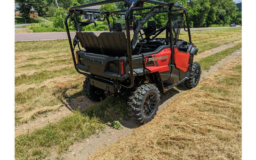
[[76,32],[76,34],[86,52],[103,54],[99,40],[93,32]]

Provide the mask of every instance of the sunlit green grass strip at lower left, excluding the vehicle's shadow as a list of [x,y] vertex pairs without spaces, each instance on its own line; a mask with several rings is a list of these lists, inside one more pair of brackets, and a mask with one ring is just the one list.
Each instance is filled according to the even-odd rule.
[[103,124],[97,118],[89,118],[85,113],[75,111],[57,124],[49,124],[33,133],[15,138],[16,159],[42,159],[52,149],[58,153],[67,151],[74,141],[87,138],[102,130]]

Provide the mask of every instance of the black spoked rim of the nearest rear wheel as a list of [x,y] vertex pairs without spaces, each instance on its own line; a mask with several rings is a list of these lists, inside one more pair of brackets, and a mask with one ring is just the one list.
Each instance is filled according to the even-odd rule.
[[143,104],[143,113],[145,116],[149,116],[153,113],[156,106],[157,98],[154,93],[149,94]]

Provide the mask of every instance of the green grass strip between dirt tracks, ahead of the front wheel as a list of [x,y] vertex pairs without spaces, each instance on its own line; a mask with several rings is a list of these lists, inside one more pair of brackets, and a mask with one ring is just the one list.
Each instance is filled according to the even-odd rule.
[[231,55],[233,52],[240,49],[241,47],[242,43],[239,43],[229,49],[207,56],[206,58],[203,58],[202,60],[198,61],[198,63],[201,64],[203,70],[208,71],[211,66],[214,66],[214,64],[217,64],[218,61],[222,60],[228,55]]

